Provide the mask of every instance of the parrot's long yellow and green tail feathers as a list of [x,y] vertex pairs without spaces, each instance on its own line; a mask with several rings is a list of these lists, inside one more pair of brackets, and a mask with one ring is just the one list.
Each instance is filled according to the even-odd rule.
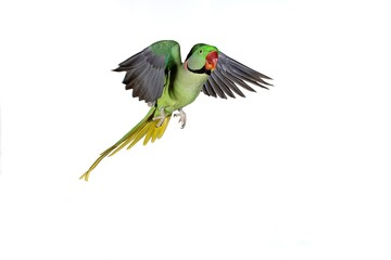
[[106,156],[112,156],[116,154],[119,150],[127,146],[127,150],[131,148],[140,139],[146,136],[143,141],[143,145],[146,145],[149,141],[152,143],[163,136],[164,131],[166,130],[169,119],[172,115],[167,115],[164,119],[163,123],[157,127],[156,121],[153,120],[154,113],[156,108],[152,107],[147,116],[129,132],[127,132],[122,139],[118,140],[113,146],[101,153],[99,158],[91,165],[91,167],[86,171],[79,179],[88,181],[89,174],[91,171],[99,165],[99,162]]

